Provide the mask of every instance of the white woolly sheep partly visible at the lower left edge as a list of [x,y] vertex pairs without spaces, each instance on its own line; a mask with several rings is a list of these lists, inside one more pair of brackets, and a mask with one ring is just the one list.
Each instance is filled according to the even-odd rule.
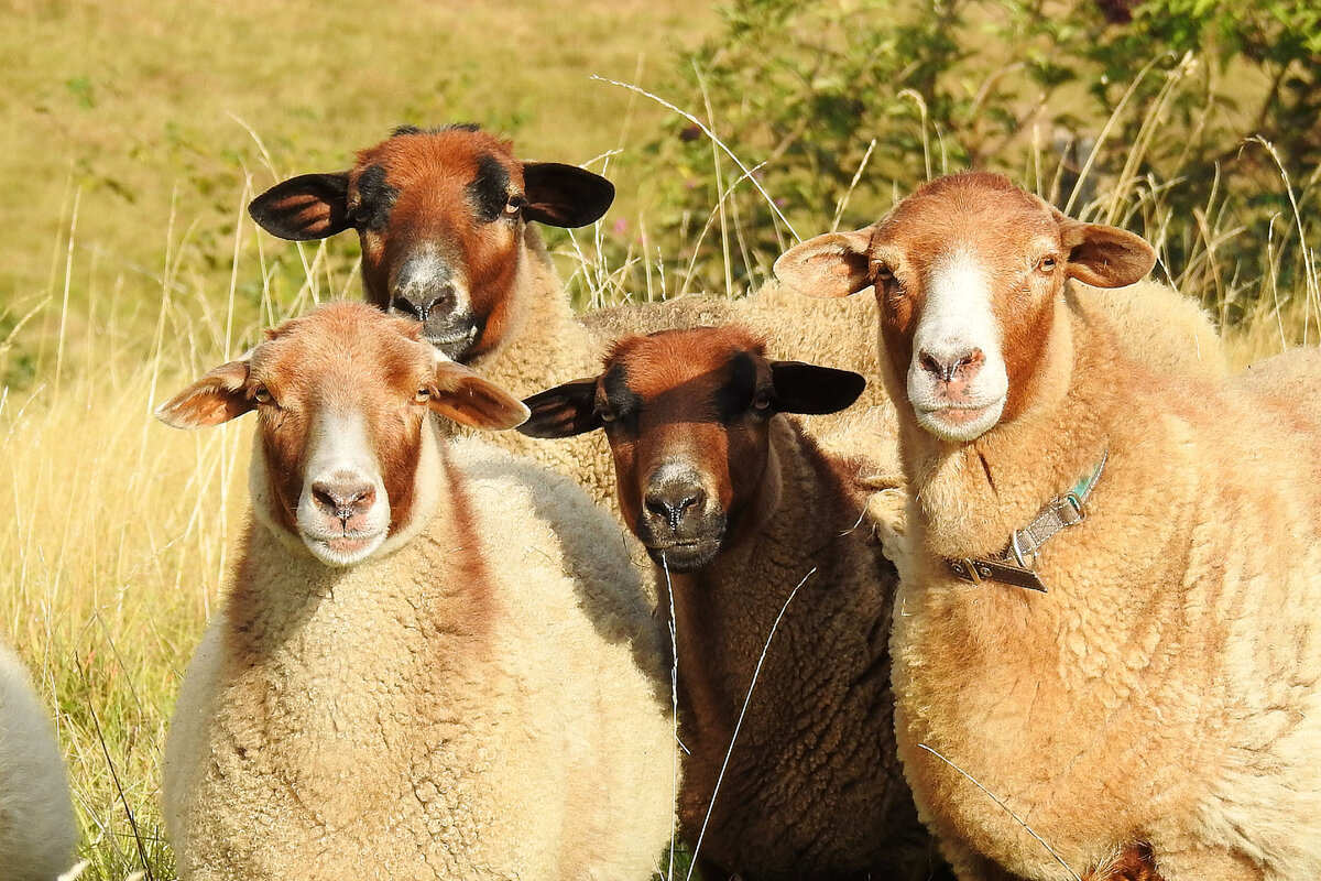
[[0,639],[0,865],[11,881],[52,881],[78,844],[69,779],[28,668]]

